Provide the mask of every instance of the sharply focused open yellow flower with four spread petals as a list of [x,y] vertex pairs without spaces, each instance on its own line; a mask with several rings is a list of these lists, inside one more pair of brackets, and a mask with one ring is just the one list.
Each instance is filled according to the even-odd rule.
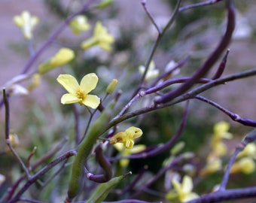
[[95,89],[98,83],[98,77],[95,73],[86,74],[80,85],[78,81],[70,74],[60,74],[57,81],[69,92],[62,95],[61,103],[63,105],[78,102],[80,105],[86,105],[90,108],[97,108],[100,99],[96,95],[88,95],[90,91]]

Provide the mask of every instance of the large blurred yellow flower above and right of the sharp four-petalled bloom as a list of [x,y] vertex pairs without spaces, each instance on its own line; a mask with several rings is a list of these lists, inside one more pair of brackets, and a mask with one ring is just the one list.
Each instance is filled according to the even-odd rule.
[[98,45],[102,50],[110,51],[112,43],[114,43],[113,36],[108,34],[107,29],[102,26],[101,22],[97,22],[93,32],[93,37],[83,41],[81,47],[86,50]]

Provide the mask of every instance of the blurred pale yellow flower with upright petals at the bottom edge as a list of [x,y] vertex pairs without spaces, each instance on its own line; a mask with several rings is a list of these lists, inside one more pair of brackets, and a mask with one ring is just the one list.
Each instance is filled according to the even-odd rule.
[[[172,180],[172,185],[175,189],[175,192],[178,195],[178,200],[181,202],[190,201],[194,198],[198,198],[198,195],[194,192],[191,192],[193,189],[193,182],[191,177],[185,175],[183,177],[182,183],[179,183],[177,180]],[[168,194],[167,194],[168,198]]]

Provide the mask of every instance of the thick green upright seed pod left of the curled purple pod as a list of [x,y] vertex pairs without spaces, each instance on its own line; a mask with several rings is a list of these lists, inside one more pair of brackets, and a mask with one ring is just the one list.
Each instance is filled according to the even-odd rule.
[[81,177],[84,170],[84,162],[90,155],[93,149],[93,144],[96,143],[100,135],[102,135],[108,127],[108,121],[114,108],[115,101],[112,102],[99,118],[90,126],[84,141],[78,147],[78,154],[72,164],[72,175],[69,181],[69,190],[67,200],[71,201],[78,195],[81,186]]

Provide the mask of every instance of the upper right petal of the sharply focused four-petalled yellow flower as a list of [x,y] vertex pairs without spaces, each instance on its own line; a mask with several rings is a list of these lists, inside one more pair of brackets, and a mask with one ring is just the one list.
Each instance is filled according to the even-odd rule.
[[87,94],[88,92],[95,89],[98,80],[99,78],[95,73],[86,74],[81,80],[80,87],[84,91],[84,93]]

